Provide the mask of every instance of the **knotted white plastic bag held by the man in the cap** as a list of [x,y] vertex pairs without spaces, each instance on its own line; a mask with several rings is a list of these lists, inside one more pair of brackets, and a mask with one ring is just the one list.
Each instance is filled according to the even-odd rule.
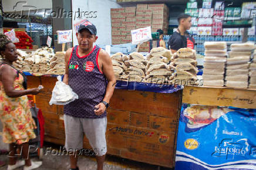
[[69,85],[61,81],[61,76],[58,76],[57,79],[58,81],[52,90],[52,98],[50,98],[49,102],[50,105],[66,105],[78,99],[78,94],[73,92]]

